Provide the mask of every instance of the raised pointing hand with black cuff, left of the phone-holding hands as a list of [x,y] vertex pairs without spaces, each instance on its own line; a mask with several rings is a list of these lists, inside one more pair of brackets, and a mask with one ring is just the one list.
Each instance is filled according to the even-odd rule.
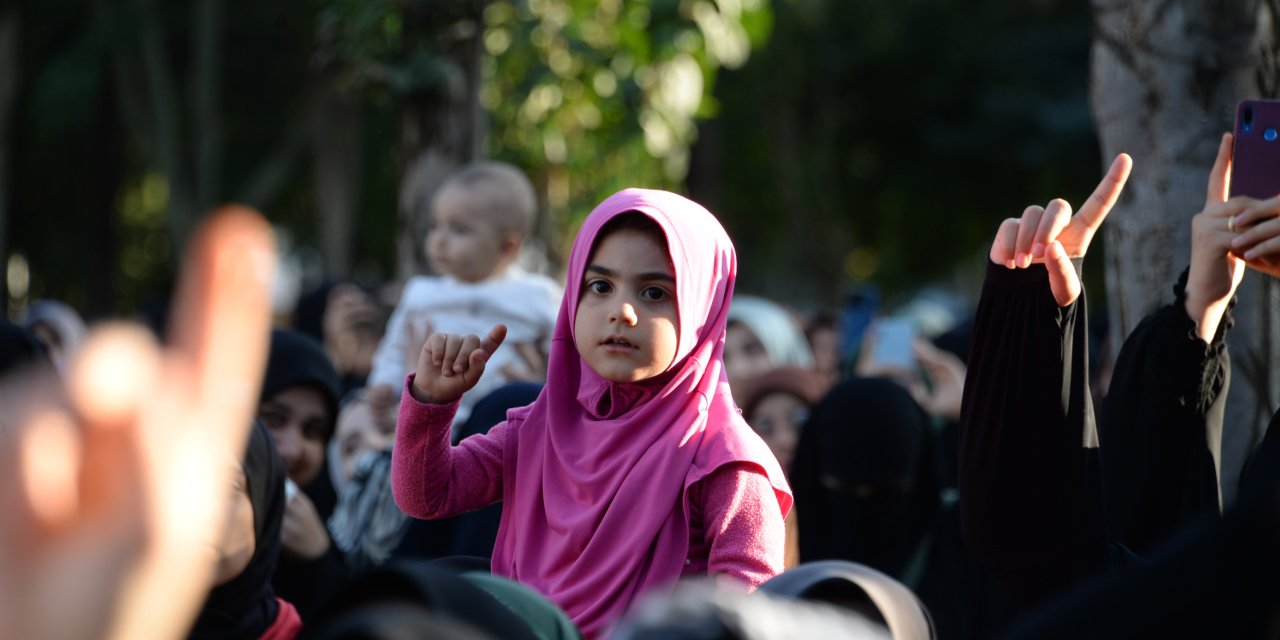
[[1093,189],[1093,195],[1075,215],[1071,205],[1056,198],[1048,206],[1029,206],[1021,218],[1001,223],[991,243],[991,261],[1009,269],[1027,269],[1043,262],[1048,283],[1059,306],[1068,306],[1080,296],[1080,279],[1071,259],[1083,257],[1102,220],[1111,212],[1133,169],[1133,159],[1120,154],[1111,169]]

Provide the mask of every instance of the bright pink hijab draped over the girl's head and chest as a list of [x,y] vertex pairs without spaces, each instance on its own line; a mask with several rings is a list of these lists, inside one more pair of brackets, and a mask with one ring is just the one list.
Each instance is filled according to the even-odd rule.
[[[662,227],[676,274],[680,343],[671,367],[631,384],[600,378],[577,355],[573,317],[600,228],[639,211]],[[548,358],[547,387],[508,413],[503,513],[493,572],[559,604],[588,637],[605,632],[654,588],[680,577],[689,553],[689,489],[749,462],[785,516],[782,470],[739,415],[721,353],[737,259],[728,234],[696,202],[625,189],[582,223]]]

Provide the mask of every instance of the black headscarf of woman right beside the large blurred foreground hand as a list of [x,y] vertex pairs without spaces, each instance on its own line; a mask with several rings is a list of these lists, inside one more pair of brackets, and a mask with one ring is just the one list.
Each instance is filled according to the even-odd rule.
[[253,557],[238,576],[214,588],[191,631],[192,639],[259,637],[275,622],[279,605],[271,575],[280,557],[284,521],[284,463],[271,434],[255,420],[244,448],[244,480],[253,504]]

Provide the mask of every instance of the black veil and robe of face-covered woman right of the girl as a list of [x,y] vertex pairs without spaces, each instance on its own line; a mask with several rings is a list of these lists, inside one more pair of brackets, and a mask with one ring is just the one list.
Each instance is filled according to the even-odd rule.
[[1000,586],[960,543],[940,500],[924,411],[897,383],[852,379],[818,402],[791,466],[800,561],[867,564],[906,584],[940,637],[987,637],[1009,620]]

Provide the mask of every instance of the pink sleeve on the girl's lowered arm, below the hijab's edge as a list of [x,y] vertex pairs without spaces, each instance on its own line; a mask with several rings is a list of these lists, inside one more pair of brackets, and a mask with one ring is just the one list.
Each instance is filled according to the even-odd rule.
[[759,467],[726,465],[698,483],[707,547],[707,572],[751,589],[782,572],[786,525],[773,485]]

